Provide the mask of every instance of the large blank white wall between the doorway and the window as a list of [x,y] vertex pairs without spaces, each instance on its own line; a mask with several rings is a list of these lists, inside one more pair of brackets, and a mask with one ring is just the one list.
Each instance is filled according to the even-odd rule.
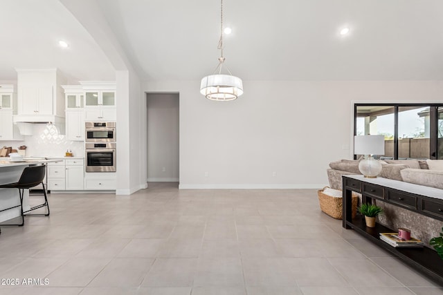
[[323,187],[328,163],[352,158],[353,101],[443,102],[442,82],[245,81],[233,102],[205,99],[199,81],[142,90],[180,93],[182,189]]

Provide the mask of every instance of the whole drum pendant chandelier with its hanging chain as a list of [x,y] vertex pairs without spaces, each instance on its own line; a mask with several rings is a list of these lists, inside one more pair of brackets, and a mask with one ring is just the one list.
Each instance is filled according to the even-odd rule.
[[[219,57],[219,64],[214,70],[213,75],[209,75],[201,79],[200,93],[205,95],[207,99],[217,101],[234,100],[243,94],[243,82],[239,77],[233,76],[230,70],[224,66],[223,56],[223,0],[221,0],[220,9],[220,40],[218,49],[221,52]],[[226,68],[228,74],[222,74],[222,68]]]

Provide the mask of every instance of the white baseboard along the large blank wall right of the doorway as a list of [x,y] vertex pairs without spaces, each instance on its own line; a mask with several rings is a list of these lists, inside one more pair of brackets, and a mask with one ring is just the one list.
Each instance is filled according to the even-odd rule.
[[321,189],[327,184],[179,184],[179,189]]

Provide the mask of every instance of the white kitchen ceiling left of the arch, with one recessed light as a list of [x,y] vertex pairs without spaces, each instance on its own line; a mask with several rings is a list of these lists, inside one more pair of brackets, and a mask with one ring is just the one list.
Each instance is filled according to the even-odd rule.
[[[115,70],[96,42],[57,0],[0,0],[0,80],[15,68],[59,68],[71,83],[115,80]],[[69,42],[67,49],[58,41]]]

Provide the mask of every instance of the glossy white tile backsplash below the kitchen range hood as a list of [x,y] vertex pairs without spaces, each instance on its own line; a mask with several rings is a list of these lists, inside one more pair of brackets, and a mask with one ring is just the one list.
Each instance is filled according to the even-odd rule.
[[66,140],[65,135],[53,124],[33,124],[33,135],[24,136],[23,141],[0,141],[0,147],[12,146],[17,149],[26,145],[26,156],[64,156],[66,150],[75,157],[84,157],[84,142]]

